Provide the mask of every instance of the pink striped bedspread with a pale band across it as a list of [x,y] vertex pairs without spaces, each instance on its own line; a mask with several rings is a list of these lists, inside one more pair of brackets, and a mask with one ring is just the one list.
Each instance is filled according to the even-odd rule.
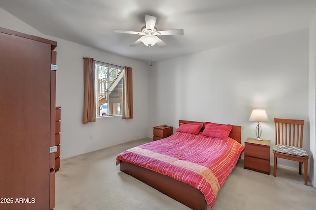
[[212,208],[220,187],[244,151],[237,141],[177,132],[120,153],[120,160],[139,165],[199,189]]

